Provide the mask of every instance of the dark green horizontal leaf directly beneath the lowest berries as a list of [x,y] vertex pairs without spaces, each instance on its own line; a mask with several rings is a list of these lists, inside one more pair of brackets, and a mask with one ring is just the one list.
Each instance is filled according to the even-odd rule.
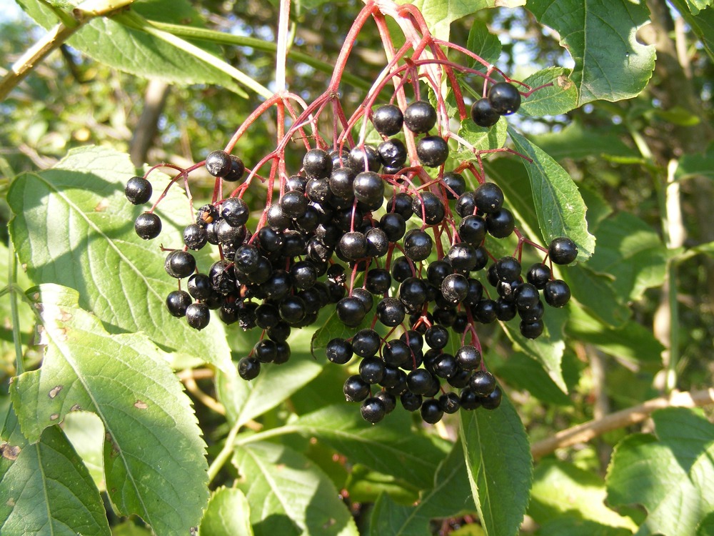
[[345,455],[351,463],[366,465],[418,489],[430,487],[446,452],[411,430],[406,412],[393,412],[381,426],[363,420],[353,405],[333,405],[299,417],[288,425],[307,437],[316,437]]

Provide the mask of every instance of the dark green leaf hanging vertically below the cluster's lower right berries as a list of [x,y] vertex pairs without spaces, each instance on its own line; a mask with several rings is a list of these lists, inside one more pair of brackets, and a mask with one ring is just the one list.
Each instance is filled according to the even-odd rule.
[[460,414],[466,470],[481,526],[488,536],[515,536],[533,482],[526,429],[505,394],[496,410]]

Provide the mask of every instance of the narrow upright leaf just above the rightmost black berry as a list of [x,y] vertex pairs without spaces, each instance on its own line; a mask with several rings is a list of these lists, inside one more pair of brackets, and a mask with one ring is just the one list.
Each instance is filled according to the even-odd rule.
[[573,179],[558,162],[521,134],[513,129],[508,129],[508,133],[516,151],[533,161],[523,160],[523,165],[531,179],[535,213],[545,242],[550,244],[556,237],[569,237],[578,245],[578,260],[588,259],[595,249],[595,237],[588,232],[587,207]]

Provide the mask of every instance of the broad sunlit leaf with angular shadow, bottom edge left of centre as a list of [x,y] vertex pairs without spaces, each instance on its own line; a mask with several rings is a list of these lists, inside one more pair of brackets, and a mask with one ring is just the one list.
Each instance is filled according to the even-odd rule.
[[238,487],[251,505],[256,536],[358,536],[330,479],[303,455],[268,442],[243,445],[233,455]]

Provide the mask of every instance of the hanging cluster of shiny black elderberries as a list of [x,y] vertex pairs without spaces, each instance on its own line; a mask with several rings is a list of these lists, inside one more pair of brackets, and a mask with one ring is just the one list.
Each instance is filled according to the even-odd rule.
[[[491,126],[520,104],[518,89],[501,82],[473,104],[471,116]],[[501,389],[486,370],[476,325],[518,316],[524,337],[540,336],[543,300],[563,307],[570,299],[550,263],[570,264],[578,249],[566,237],[547,249],[530,242],[516,229],[498,185],[473,166],[446,171],[449,147],[430,134],[438,114],[429,102],[416,100],[404,110],[384,104],[366,117],[383,141],[308,150],[299,172],[281,179],[278,201],[253,231],[246,227],[244,190],[200,207],[183,230],[183,247],[167,250],[166,272],[179,285],[166,307],[195,329],[212,315],[261,329],[261,340],[238,362],[238,373],[250,380],[263,364],[286,362],[291,329],[315,323],[333,304],[356,334],[331,339],[326,356],[337,364],[359,359],[358,374],[343,391],[348,401],[361,402],[368,422],[380,421],[397,399],[428,423],[460,408],[496,408]],[[399,137],[404,129],[418,163],[408,162]],[[245,172],[241,159],[221,150],[208,154],[205,167],[225,182],[239,182]],[[426,168],[438,169],[436,177]],[[476,188],[467,186],[465,169]],[[151,183],[134,177],[125,193],[134,204],[146,203]],[[140,237],[155,238],[161,219],[152,208],[135,228]],[[515,256],[493,257],[487,237],[514,232]],[[206,244],[218,247],[220,259],[202,272],[191,252]],[[525,272],[524,244],[546,253]]]

